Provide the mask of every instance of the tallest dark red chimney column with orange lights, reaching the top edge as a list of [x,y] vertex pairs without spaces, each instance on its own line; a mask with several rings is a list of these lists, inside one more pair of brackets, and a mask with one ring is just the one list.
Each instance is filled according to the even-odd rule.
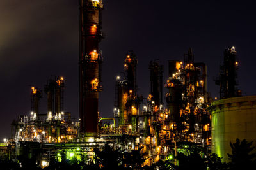
[[98,132],[102,10],[101,0],[80,0],[79,117],[80,132],[86,136],[97,136]]

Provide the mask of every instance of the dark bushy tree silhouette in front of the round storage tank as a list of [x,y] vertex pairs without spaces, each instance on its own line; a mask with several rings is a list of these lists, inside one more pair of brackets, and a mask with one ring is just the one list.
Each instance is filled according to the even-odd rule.
[[250,153],[255,147],[252,147],[251,142],[247,142],[245,139],[240,141],[238,138],[235,143],[230,142],[232,148],[232,154],[228,154],[228,159],[230,159],[230,169],[250,169],[250,167],[255,167],[256,153]]

